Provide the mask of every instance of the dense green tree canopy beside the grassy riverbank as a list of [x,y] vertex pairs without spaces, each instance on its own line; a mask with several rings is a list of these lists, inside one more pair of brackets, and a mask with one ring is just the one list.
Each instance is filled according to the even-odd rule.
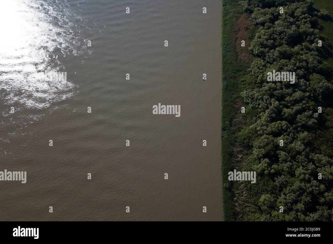
[[[251,152],[243,170],[257,173],[256,184],[244,182],[258,209],[247,219],[332,221],[332,47],[318,25],[328,13],[312,0],[240,4],[256,28],[253,62],[241,79],[247,124],[237,134]],[[295,72],[295,83],[267,81],[273,70]]]

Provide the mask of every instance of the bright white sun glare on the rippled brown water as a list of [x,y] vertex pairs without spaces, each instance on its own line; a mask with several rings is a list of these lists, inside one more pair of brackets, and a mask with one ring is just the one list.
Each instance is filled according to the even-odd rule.
[[2,103],[45,108],[75,93],[70,79],[62,84],[41,75],[45,70],[66,71],[59,56],[76,52],[71,15],[61,7],[55,9],[51,1],[0,0]]

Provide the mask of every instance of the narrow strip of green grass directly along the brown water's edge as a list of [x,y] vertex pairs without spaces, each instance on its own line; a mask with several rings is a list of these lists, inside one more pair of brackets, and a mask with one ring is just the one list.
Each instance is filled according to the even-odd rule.
[[[244,14],[238,0],[222,0],[222,201],[223,218],[225,221],[234,220],[233,214],[233,193],[232,187],[225,187],[232,184],[228,179],[228,172],[235,169],[232,164],[232,145],[235,141],[235,131],[232,129],[232,122],[236,111],[235,104],[240,99],[240,78],[246,74],[249,63],[241,62],[236,51],[235,23],[234,18]],[[249,44],[248,44],[249,45]]]

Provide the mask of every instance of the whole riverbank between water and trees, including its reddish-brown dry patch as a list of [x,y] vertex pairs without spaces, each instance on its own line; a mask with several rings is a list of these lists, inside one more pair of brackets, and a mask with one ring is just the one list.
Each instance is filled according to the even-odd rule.
[[[246,75],[252,58],[248,51],[252,28],[250,15],[243,12],[238,1],[222,1],[222,199],[225,221],[237,220],[233,199],[239,191],[239,182],[228,181],[228,172],[240,168],[245,152],[237,143],[235,134],[244,126],[240,113],[240,79]],[[241,46],[245,41],[245,47]],[[239,157],[240,156],[240,157]]]

